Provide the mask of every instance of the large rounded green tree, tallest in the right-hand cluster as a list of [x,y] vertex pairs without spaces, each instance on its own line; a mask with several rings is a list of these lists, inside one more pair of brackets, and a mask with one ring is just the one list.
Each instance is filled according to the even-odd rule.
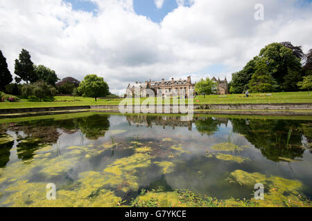
[[288,79],[294,79],[295,83],[301,79],[301,59],[293,54],[293,50],[282,44],[272,43],[261,49],[259,57],[266,59],[268,72],[272,74],[281,90],[297,90],[294,85],[284,84]]

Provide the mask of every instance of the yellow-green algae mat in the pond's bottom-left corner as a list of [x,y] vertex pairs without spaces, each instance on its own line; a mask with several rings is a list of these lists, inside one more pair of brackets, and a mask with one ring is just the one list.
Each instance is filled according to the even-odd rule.
[[73,191],[60,189],[56,192],[56,200],[46,199],[46,183],[42,182],[23,180],[6,191],[12,194],[2,204],[12,207],[112,207],[119,206],[121,202],[121,198],[114,195],[113,191],[90,186],[78,186]]

